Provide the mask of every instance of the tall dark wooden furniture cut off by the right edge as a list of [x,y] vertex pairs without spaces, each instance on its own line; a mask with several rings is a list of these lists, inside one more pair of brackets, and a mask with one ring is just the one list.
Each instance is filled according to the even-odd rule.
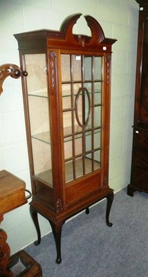
[[148,193],[148,0],[139,3],[131,182],[127,194]]

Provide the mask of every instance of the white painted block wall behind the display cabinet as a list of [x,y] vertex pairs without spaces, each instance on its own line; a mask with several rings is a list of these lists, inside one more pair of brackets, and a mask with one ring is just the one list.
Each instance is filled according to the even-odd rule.
[[[133,101],[136,72],[138,3],[135,0],[0,0],[0,64],[19,65],[15,33],[49,28],[59,30],[68,15],[82,12],[97,19],[113,44],[111,91],[111,143],[109,184],[115,191],[129,184]],[[90,34],[86,21],[79,19],[75,33]],[[8,170],[26,181],[30,189],[24,107],[21,80],[7,78],[0,96],[0,170]],[[50,231],[39,217],[41,235]],[[26,204],[4,216],[1,227],[8,234],[11,253],[36,239]]]

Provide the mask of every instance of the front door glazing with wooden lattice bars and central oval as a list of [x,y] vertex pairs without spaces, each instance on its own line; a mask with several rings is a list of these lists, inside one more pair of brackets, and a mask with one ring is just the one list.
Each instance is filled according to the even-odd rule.
[[62,54],[66,183],[101,168],[102,87],[102,57]]

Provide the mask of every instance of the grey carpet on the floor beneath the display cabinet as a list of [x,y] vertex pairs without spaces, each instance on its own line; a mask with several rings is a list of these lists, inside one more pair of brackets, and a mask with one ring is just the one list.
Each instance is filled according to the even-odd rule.
[[53,233],[26,251],[40,263],[43,277],[147,277],[148,195],[115,194],[105,222],[106,200],[66,222],[62,229],[62,263],[55,263]]

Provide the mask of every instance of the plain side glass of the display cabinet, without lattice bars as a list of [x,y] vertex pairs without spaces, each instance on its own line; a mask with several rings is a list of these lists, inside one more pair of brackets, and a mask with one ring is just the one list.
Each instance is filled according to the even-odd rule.
[[53,186],[46,55],[25,55],[28,107],[35,177]]

